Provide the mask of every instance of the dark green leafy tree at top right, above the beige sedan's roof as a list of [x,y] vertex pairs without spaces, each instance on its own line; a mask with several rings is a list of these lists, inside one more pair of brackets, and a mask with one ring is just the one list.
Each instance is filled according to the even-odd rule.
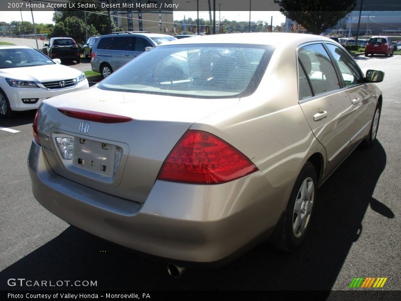
[[309,33],[319,35],[351,12],[356,0],[274,0],[274,3],[284,16]]

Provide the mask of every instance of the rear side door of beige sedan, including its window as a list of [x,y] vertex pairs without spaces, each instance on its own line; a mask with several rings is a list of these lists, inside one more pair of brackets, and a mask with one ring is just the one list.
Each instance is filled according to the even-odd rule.
[[325,174],[347,156],[353,107],[322,43],[298,49],[299,104],[327,155]]

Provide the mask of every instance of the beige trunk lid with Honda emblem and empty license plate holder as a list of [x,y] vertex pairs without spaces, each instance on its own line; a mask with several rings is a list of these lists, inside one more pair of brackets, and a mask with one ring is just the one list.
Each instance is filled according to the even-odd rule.
[[[60,176],[108,194],[144,202],[165,158],[191,124],[238,101],[238,98],[196,99],[93,87],[44,101],[38,132],[45,156]],[[132,120],[104,123],[72,118],[58,108],[96,111]],[[71,148],[72,152],[68,150]]]

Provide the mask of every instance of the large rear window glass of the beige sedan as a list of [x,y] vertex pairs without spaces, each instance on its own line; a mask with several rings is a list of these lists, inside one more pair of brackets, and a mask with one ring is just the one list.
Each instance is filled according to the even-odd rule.
[[191,97],[252,94],[273,48],[261,45],[165,45],[108,76],[99,88]]

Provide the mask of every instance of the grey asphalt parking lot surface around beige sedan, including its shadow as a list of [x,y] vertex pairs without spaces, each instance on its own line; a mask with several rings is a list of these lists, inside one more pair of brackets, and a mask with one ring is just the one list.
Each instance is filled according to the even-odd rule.
[[[96,280],[96,287],[85,289],[99,290],[355,292],[349,288],[354,277],[387,277],[379,290],[395,292],[377,299],[399,297],[401,56],[356,61],[362,70],[385,72],[378,84],[383,107],[377,141],[368,149],[357,148],[319,189],[303,248],[288,254],[261,245],[222,268],[189,269],[179,279],[168,276],[164,263],[69,226],[41,207],[32,195],[26,166],[34,112],[0,121],[1,127],[12,130],[0,129],[0,289],[19,290],[8,279],[26,278]],[[85,64],[83,60],[71,67]]]

